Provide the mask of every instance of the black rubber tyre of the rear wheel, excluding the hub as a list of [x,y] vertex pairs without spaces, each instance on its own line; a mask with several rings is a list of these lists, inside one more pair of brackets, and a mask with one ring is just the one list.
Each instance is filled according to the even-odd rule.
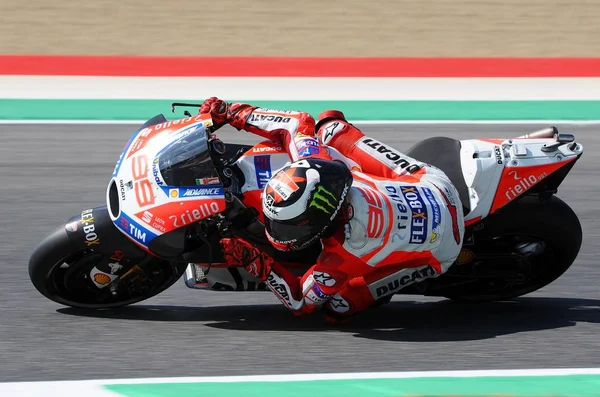
[[[446,298],[462,302],[489,302],[513,299],[537,291],[562,276],[573,264],[581,248],[581,223],[575,212],[561,199],[552,196],[540,202],[537,196],[527,196],[484,221],[484,228],[475,233],[475,244],[482,241],[514,239],[521,244],[545,247],[540,255],[531,255],[530,278],[502,287],[488,286],[478,281],[451,293]],[[504,240],[503,240],[504,239]],[[536,243],[537,242],[537,243]],[[467,247],[468,248],[468,247]],[[477,261],[477,255],[473,262]],[[461,266],[454,264],[453,266]],[[482,268],[485,262],[480,265]],[[450,268],[451,275],[452,267]]]

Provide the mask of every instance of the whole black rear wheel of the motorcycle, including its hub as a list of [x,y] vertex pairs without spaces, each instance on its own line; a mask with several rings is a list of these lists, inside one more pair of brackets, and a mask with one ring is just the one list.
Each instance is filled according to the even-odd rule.
[[579,219],[565,202],[555,196],[543,201],[525,197],[474,233],[474,245],[463,247],[467,263],[450,268],[442,295],[483,302],[529,294],[572,265],[581,240]]

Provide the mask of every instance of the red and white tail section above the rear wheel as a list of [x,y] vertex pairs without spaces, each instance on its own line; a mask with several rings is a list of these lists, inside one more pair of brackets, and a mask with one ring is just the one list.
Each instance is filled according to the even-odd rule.
[[461,141],[461,165],[469,188],[467,225],[525,195],[556,193],[583,146],[555,127],[512,139]]

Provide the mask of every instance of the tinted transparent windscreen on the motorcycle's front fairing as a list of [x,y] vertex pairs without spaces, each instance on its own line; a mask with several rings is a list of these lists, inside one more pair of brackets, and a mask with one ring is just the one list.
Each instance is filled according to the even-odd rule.
[[185,131],[184,136],[163,149],[158,156],[158,166],[169,186],[204,185],[207,180],[221,183],[210,158],[208,139],[202,125]]

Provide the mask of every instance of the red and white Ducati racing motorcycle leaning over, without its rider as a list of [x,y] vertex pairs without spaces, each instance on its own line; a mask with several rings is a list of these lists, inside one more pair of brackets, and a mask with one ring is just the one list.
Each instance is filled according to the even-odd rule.
[[[173,104],[173,111],[176,105],[199,106]],[[289,161],[286,151],[270,141],[225,144],[209,115],[185,116],[167,121],[160,114],[139,127],[116,162],[106,205],[80,211],[35,248],[29,276],[42,295],[73,307],[118,307],[155,296],[182,276],[193,289],[268,291],[242,266],[224,263],[219,241],[232,235],[297,274],[315,263],[320,247],[281,252],[264,234],[261,192]],[[373,147],[403,161],[383,143]],[[396,293],[511,299],[552,283],[574,262],[581,225],[556,196],[583,154],[573,135],[551,127],[507,139],[434,137],[406,154],[442,169],[457,187],[464,243],[447,273],[393,280],[374,306]]]

